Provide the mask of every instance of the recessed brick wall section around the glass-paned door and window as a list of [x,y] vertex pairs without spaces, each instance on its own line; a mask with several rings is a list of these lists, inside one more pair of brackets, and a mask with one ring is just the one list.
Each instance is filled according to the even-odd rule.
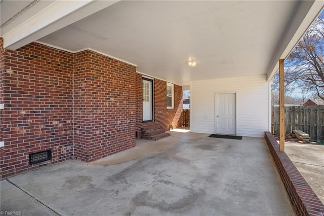
[[[152,78],[153,79],[153,78]],[[167,82],[163,80],[154,80],[154,122],[142,122],[142,75],[137,74],[137,115],[136,129],[138,138],[141,138],[141,127],[150,124],[160,124],[165,130],[169,130],[169,126],[173,128],[182,126],[182,86],[174,84],[174,109],[167,109]]]

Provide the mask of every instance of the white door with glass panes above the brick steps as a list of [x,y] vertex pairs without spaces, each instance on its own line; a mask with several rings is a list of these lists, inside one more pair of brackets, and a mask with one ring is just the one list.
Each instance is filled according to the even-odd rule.
[[143,78],[143,122],[153,120],[153,81]]

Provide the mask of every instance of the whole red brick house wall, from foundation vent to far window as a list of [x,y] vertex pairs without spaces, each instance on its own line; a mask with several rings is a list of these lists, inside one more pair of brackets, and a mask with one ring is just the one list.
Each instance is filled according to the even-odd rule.
[[[4,50],[2,38],[0,54],[1,178],[135,146],[142,126],[142,76],[135,66],[90,50],[73,54],[37,43]],[[182,87],[174,86],[171,110],[166,88],[154,79],[154,120],[168,130],[181,126]],[[52,160],[29,165],[29,154],[44,150],[52,150]]]

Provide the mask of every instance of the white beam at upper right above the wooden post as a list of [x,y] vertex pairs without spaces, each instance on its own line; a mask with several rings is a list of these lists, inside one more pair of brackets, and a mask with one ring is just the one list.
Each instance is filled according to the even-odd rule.
[[286,59],[297,43],[303,37],[310,25],[318,17],[324,7],[324,1],[300,1],[294,17],[287,25],[287,30],[282,35],[280,43],[273,55],[267,70],[267,81],[271,81],[279,68],[279,59]]

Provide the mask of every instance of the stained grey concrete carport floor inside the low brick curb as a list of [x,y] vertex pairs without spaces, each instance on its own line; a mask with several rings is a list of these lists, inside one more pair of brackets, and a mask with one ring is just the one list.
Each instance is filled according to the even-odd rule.
[[22,215],[295,215],[263,138],[170,132],[92,163],[1,182],[1,211]]

